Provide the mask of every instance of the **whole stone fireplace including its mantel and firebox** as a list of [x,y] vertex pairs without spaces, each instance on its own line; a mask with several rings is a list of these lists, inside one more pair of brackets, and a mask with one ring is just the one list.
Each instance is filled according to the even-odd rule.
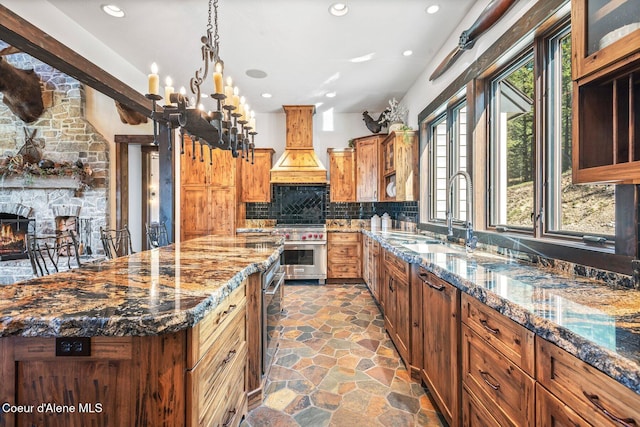
[[[0,41],[0,49],[5,46]],[[85,119],[84,86],[25,53],[5,59],[17,68],[35,70],[43,87],[45,111],[35,122],[24,123],[0,102],[1,230],[11,228],[24,239],[23,231],[51,235],[71,229],[78,234],[83,253],[101,253],[99,228],[109,223],[109,142]],[[51,169],[25,165],[16,173],[7,167],[20,159],[25,128],[29,134],[37,131],[34,140],[42,159],[54,165]],[[81,165],[79,170],[88,172],[90,182],[59,165]],[[33,170],[36,172],[30,172]],[[17,245],[9,239],[8,246]],[[31,277],[28,259],[0,258],[0,285]]]

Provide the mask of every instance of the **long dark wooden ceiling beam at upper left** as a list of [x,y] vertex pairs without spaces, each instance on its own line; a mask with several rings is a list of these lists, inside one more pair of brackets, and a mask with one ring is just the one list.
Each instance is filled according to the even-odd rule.
[[[0,5],[0,40],[75,78],[120,103],[151,116],[152,103],[140,92]],[[114,107],[115,108],[115,107]],[[161,110],[161,107],[158,107]]]

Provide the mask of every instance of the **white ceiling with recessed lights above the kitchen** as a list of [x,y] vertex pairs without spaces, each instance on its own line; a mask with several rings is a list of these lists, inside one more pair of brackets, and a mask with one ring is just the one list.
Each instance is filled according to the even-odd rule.
[[[102,12],[100,5],[108,1],[48,0],[141,72],[147,74],[156,62],[161,86],[169,75],[176,88],[188,88],[202,66],[207,0],[112,0],[124,9],[122,19]],[[475,3],[347,0],[349,13],[334,17],[328,12],[331,0],[219,2],[225,76],[234,79],[258,113],[282,112],[283,104],[318,103],[336,113],[383,110],[434,61],[433,55]],[[427,14],[425,9],[435,3],[440,11]],[[408,49],[413,55],[403,56]],[[373,59],[350,62],[367,54]],[[267,77],[251,78],[246,74],[250,69],[263,70]],[[205,92],[212,92],[212,84],[207,83]],[[263,92],[273,97],[262,98]],[[328,98],[328,92],[336,96]]]

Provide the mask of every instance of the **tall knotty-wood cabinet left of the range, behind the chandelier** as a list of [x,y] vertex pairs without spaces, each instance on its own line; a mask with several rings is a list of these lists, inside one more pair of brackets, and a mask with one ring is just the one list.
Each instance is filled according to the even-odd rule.
[[[196,159],[193,160],[195,147]],[[191,144],[185,137],[185,154],[180,158],[180,234],[189,240],[209,234],[231,236],[236,230],[240,159],[230,151]]]

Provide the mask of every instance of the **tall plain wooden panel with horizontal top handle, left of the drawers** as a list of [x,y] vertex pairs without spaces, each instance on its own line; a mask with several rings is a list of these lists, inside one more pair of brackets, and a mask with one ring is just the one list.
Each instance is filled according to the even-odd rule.
[[460,291],[423,268],[421,377],[450,426],[460,425]]

